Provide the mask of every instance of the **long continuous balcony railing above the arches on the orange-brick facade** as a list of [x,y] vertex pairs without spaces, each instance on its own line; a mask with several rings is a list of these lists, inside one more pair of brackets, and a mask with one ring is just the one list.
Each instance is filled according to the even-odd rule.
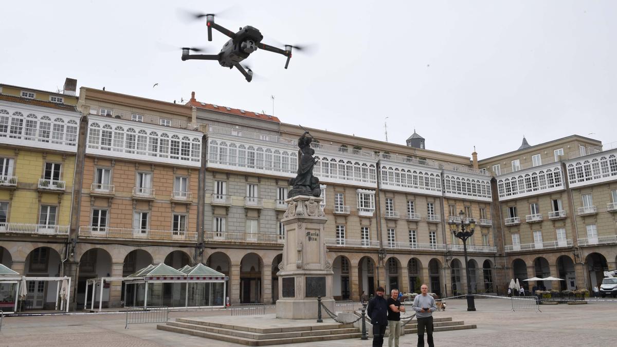
[[93,238],[125,238],[149,241],[197,241],[196,232],[175,232],[173,230],[80,227],[79,235]]

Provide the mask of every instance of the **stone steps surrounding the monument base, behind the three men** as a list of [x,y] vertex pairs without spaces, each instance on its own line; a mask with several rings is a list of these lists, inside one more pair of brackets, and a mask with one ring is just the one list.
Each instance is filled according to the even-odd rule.
[[[298,320],[292,322],[297,323]],[[451,317],[435,317],[433,324],[435,332],[476,328],[474,324],[453,321]],[[157,325],[157,329],[247,346],[285,345],[349,338],[360,339],[362,337],[360,329],[352,324],[337,324],[336,322],[316,324],[315,320],[310,320],[304,325],[278,324],[276,327],[264,327],[263,325],[247,325],[233,321],[226,322],[221,319],[178,318],[167,322],[167,324]],[[367,327],[368,329],[369,327]],[[405,334],[415,334],[417,331],[415,320],[405,325]]]

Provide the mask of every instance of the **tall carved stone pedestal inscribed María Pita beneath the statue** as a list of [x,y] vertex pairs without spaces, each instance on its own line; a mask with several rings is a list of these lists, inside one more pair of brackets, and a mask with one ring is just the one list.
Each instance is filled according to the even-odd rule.
[[317,319],[317,296],[334,311],[333,271],[326,259],[327,219],[321,198],[300,195],[285,202],[288,209],[281,222],[286,235],[277,274],[280,299],[276,301],[276,318]]

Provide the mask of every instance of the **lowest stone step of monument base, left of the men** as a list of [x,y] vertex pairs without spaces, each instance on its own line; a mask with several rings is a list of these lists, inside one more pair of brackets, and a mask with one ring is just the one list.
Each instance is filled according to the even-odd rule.
[[231,343],[239,343],[241,345],[246,345],[246,346],[284,345],[284,344],[293,344],[293,343],[316,342],[316,341],[327,341],[327,340],[342,340],[342,339],[347,339],[347,338],[362,337],[362,333],[355,332],[355,333],[341,333],[341,334],[331,333],[329,335],[318,335],[318,336],[271,338],[267,340],[254,340],[251,338],[244,338],[244,337],[239,337],[239,336],[231,336],[231,335],[225,335],[225,334],[220,334],[220,333],[204,332],[202,330],[196,330],[196,329],[174,327],[173,325],[167,325],[167,324],[159,324],[157,325],[157,329],[168,331],[168,332],[184,333],[184,334],[193,335],[196,337],[211,338],[213,340],[226,341],[226,342],[231,342]]

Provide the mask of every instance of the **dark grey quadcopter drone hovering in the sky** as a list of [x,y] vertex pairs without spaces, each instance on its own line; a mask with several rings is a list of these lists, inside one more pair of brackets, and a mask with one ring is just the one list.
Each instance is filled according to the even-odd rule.
[[[300,46],[293,46],[291,44],[285,44],[285,49],[276,48],[275,46],[270,46],[269,44],[262,43],[263,35],[260,31],[255,28],[247,25],[246,27],[240,28],[237,32],[233,32],[228,30],[221,25],[218,25],[214,22],[214,14],[194,14],[194,17],[197,19],[201,19],[205,17],[206,24],[208,26],[208,41],[212,41],[212,29],[220,31],[226,36],[230,37],[230,40],[223,45],[223,48],[218,54],[191,54],[191,51],[200,52],[199,48],[182,48],[182,60],[188,61],[191,59],[204,60],[204,61],[218,61],[223,67],[228,67],[233,69],[234,67],[238,69],[239,72],[244,75],[247,82],[251,82],[253,79],[253,72],[247,66],[240,65],[244,59],[249,57],[252,52],[257,51],[257,49],[263,49],[264,51],[274,52],[281,54],[287,57],[287,61],[285,62],[285,69],[289,66],[289,60],[291,59],[291,50],[292,48],[296,48],[297,50],[302,50]],[[246,68],[246,69],[245,69]]]

